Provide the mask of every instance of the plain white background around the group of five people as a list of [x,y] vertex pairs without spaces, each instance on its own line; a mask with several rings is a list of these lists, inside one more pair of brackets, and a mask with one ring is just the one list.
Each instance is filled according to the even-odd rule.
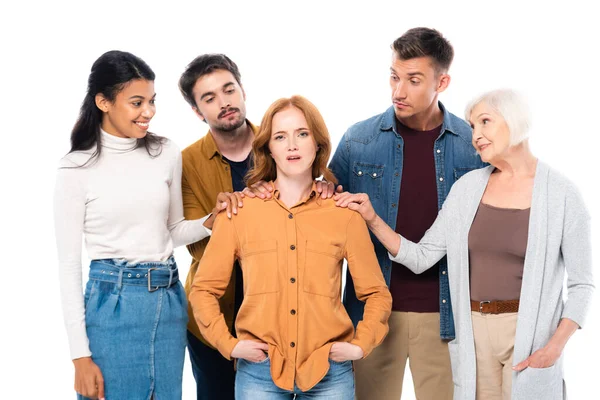
[[[446,107],[462,117],[467,101],[484,90],[510,87],[527,95],[533,150],[577,183],[597,244],[600,29],[593,2],[540,2],[541,8],[529,1],[333,3],[20,1],[0,6],[1,399],[74,398],[58,293],[52,191],[90,67],[108,50],[130,51],[154,69],[158,113],[151,130],[181,148],[207,131],[177,88],[187,63],[206,52],[225,53],[238,64],[253,122],[260,122],[275,99],[301,94],[319,107],[337,144],[351,124],[390,105],[392,41],[412,27],[436,28],[456,53],[452,82],[441,96]],[[185,276],[190,263],[185,248],[177,249],[176,258]],[[87,265],[86,259],[84,275]],[[598,398],[592,392],[598,379],[597,313],[595,300],[587,326],[567,347],[572,399]],[[408,373],[405,388],[403,399],[414,399]],[[193,396],[186,361],[184,399]]]

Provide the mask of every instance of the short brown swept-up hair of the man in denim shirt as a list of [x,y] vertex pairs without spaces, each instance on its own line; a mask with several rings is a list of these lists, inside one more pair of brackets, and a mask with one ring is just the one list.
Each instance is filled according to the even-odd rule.
[[392,43],[401,60],[429,57],[438,73],[447,72],[454,59],[454,49],[442,34],[430,28],[412,28]]

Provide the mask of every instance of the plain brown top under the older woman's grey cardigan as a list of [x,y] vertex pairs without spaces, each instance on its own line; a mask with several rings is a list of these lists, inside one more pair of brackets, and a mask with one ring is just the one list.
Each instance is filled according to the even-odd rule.
[[479,204],[469,231],[471,300],[518,300],[529,211]]

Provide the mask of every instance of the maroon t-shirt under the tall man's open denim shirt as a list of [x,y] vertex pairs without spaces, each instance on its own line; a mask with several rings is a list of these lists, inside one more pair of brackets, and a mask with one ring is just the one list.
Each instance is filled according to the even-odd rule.
[[[438,214],[434,143],[442,126],[430,131],[416,131],[396,121],[404,139],[404,163],[396,232],[418,242]],[[392,310],[440,312],[439,265],[415,274],[402,264],[393,263],[390,292]]]

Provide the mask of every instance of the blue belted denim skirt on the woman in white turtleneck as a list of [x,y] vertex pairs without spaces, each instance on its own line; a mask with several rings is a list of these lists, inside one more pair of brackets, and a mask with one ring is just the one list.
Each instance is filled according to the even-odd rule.
[[173,257],[140,264],[92,261],[85,324],[107,400],[181,399],[187,322]]

